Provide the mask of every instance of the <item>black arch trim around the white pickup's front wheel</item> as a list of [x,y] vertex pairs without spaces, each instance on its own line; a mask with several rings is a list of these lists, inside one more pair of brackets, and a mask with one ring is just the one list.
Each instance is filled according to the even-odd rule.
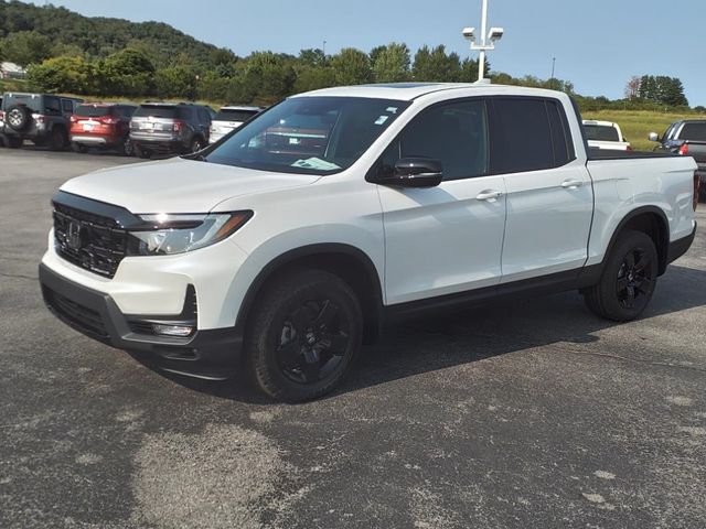
[[236,328],[245,333],[248,317],[263,288],[291,270],[313,268],[343,279],[355,292],[363,310],[363,342],[374,343],[381,335],[383,294],[373,260],[354,246],[323,242],[286,251],[269,261],[250,283],[238,309]]

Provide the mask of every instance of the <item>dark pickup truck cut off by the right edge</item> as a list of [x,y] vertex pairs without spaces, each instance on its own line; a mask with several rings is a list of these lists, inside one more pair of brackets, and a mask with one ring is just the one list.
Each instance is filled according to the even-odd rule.
[[706,119],[683,119],[667,127],[660,137],[650,133],[650,141],[659,142],[656,152],[673,152],[692,156],[698,164],[700,198],[706,201]]

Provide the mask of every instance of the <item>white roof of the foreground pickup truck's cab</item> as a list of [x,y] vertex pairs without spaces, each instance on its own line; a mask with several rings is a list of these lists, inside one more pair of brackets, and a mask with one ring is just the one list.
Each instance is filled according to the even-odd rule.
[[460,90],[473,89],[479,90],[479,95],[490,94],[512,94],[512,95],[534,95],[534,96],[554,96],[563,93],[555,90],[546,90],[542,88],[526,88],[522,86],[506,86],[478,83],[387,83],[375,85],[359,86],[336,86],[332,88],[322,88],[320,90],[298,94],[292,97],[309,96],[334,96],[334,97],[370,97],[376,99],[396,99],[410,101],[418,97],[441,90]]

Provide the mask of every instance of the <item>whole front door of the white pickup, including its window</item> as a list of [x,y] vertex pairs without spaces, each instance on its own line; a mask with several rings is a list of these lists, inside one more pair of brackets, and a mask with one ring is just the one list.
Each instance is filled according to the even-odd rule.
[[501,276],[505,184],[489,175],[483,98],[422,110],[381,159],[422,156],[443,168],[431,188],[378,186],[385,225],[385,290],[389,304],[495,285]]

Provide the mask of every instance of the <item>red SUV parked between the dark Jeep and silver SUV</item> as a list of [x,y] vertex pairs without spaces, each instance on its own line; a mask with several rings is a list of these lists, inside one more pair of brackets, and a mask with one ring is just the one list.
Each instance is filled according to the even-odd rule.
[[87,102],[79,105],[71,117],[71,144],[77,152],[89,147],[116,149],[132,155],[130,141],[130,118],[135,105],[114,102]]

